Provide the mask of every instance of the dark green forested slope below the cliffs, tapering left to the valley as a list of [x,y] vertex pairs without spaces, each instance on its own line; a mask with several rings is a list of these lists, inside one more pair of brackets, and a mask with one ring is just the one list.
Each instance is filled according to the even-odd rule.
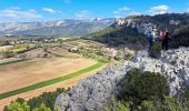
[[143,34],[138,33],[137,29],[127,26],[111,26],[83,38],[112,47],[126,46],[130,49],[142,49],[147,42],[143,37]]

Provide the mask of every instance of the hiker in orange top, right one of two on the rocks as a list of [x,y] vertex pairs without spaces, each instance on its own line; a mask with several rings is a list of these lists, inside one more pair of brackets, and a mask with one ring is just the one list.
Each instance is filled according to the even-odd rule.
[[169,44],[169,32],[168,29],[166,28],[162,32],[161,36],[161,48],[162,50],[168,50],[168,44]]

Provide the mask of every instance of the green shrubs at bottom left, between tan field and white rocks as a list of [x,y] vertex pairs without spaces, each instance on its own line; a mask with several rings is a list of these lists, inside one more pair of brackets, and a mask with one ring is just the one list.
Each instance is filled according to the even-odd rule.
[[[28,101],[18,98],[9,105],[6,105],[3,111],[53,111],[56,98],[62,92],[68,93],[69,90],[70,89],[66,90],[63,88],[62,89],[59,88],[53,92],[43,92],[39,97],[31,98]],[[24,108],[27,109],[29,108],[29,110],[23,110]],[[21,109],[21,110],[17,110],[17,109]]]

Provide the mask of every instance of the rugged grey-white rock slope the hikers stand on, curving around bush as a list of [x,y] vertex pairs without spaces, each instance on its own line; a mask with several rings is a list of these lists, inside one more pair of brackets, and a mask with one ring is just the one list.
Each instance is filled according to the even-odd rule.
[[141,71],[160,72],[168,80],[170,95],[179,94],[189,85],[189,48],[161,52],[159,60],[148,57],[147,51],[136,53],[132,61],[121,67],[109,65],[96,75],[84,79],[69,94],[62,93],[56,100],[61,111],[101,111],[112,93],[119,93],[118,82],[127,71],[139,68]]

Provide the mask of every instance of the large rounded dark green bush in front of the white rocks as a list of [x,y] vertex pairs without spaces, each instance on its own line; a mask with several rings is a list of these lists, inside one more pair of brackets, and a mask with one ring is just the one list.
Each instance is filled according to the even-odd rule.
[[140,104],[145,100],[162,99],[166,94],[167,81],[163,75],[156,72],[141,72],[139,69],[132,69],[127,72],[120,81],[121,98]]

